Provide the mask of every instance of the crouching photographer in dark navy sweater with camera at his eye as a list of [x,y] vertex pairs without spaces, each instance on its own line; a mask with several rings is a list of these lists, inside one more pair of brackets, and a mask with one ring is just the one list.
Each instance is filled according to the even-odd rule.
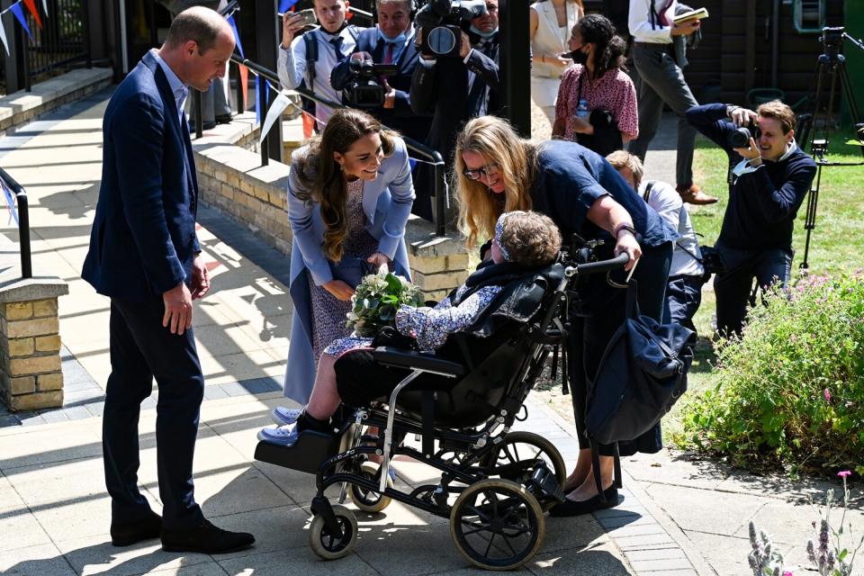
[[816,164],[797,147],[795,113],[779,100],[756,112],[725,104],[694,106],[687,119],[729,155],[729,204],[716,242],[725,272],[716,275],[714,289],[717,330],[740,335],[753,278],[763,289],[787,286],[793,220]]

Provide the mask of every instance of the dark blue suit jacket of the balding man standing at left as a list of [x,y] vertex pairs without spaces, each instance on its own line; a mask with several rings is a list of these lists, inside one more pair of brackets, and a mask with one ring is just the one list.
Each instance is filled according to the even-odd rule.
[[189,284],[197,204],[188,126],[148,52],[105,110],[102,187],[81,276],[100,294],[135,302]]

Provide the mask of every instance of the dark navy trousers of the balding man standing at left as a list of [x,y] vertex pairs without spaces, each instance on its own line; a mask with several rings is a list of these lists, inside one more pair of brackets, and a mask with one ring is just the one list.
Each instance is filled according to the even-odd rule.
[[169,529],[202,520],[194,500],[192,461],[204,378],[192,329],[183,336],[162,327],[165,306],[111,301],[111,375],[105,392],[103,456],[112,520],[130,522],[148,513],[138,490],[140,403],[156,378],[156,443],[162,522]]

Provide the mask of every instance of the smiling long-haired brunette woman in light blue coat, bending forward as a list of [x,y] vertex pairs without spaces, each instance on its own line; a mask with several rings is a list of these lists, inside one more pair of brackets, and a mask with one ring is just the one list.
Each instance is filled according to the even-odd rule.
[[404,236],[413,202],[405,143],[365,112],[334,112],[320,138],[294,152],[286,397],[309,400],[321,352],[348,335],[346,314],[363,275],[388,264],[410,277]]

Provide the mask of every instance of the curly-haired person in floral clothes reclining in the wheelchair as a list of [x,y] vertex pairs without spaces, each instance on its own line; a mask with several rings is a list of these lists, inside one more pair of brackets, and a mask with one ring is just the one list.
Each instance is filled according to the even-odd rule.
[[[454,293],[434,308],[403,306],[396,314],[396,329],[421,351],[442,347],[449,335],[471,326],[495,300],[514,275],[554,263],[562,238],[554,222],[539,212],[511,211],[501,214],[495,226],[491,260]],[[340,338],[324,350],[309,403],[302,410],[277,407],[273,411],[278,428],[263,428],[258,439],[280,446],[293,446],[303,430],[331,432],[330,418],[345,402],[363,408],[388,395],[398,382],[393,378],[338,378],[339,374],[363,371],[374,362],[374,338]]]

